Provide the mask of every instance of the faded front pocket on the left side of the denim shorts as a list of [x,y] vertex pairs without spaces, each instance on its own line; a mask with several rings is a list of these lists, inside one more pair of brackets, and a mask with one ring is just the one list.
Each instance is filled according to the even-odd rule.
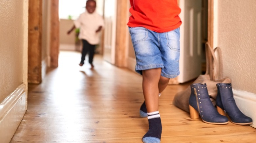
[[129,32],[133,44],[148,38],[148,29],[144,27],[129,27]]

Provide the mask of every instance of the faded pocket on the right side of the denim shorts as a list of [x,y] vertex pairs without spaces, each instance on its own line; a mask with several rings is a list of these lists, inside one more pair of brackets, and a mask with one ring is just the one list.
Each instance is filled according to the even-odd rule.
[[180,28],[166,32],[167,45],[171,50],[180,52]]

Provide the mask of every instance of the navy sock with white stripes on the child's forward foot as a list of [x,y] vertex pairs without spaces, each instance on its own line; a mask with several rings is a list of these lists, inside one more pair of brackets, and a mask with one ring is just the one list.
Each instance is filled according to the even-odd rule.
[[148,113],[148,132],[143,136],[144,143],[160,143],[162,123],[159,111]]

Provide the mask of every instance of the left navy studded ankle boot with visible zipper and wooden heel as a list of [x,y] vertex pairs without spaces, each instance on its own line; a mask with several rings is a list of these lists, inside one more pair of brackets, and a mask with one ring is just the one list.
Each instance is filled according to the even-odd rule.
[[191,119],[202,118],[208,124],[227,124],[228,118],[220,115],[213,106],[206,84],[190,85],[191,94],[189,97],[189,111]]

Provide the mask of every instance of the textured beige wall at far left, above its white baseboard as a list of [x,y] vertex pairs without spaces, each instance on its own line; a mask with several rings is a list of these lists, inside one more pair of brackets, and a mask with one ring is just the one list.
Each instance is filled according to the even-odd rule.
[[[23,21],[23,2],[0,1],[0,103],[19,85],[26,82],[28,24]],[[25,15],[27,16],[27,15]],[[27,20],[27,18],[24,18]],[[25,62],[24,62],[25,61]],[[24,64],[25,63],[25,64]],[[23,77],[25,76],[25,78]],[[25,81],[24,81],[25,80]],[[26,84],[26,83],[25,83]]]

